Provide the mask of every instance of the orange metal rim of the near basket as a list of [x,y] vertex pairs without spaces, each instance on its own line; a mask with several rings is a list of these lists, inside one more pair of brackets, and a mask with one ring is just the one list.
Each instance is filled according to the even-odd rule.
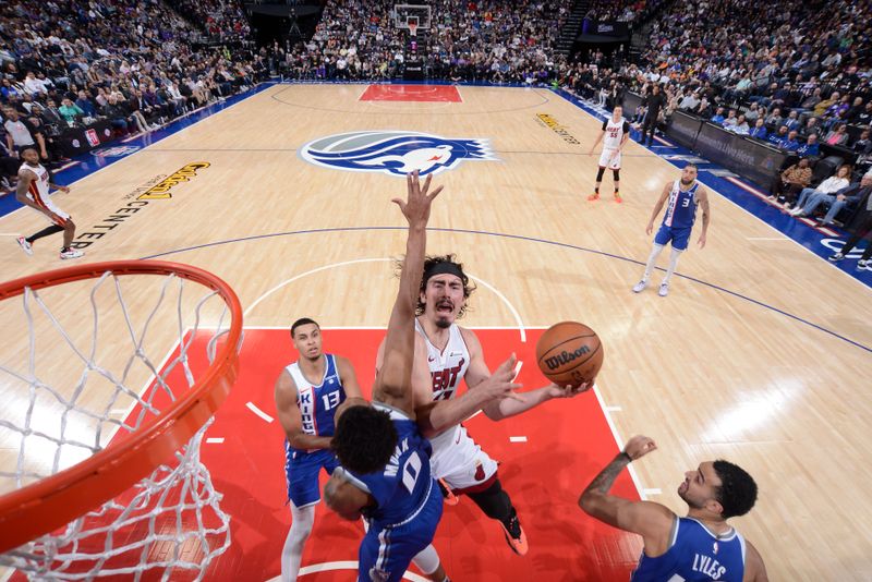
[[119,445],[41,481],[0,497],[0,553],[55,531],[100,506],[171,458],[211,417],[237,377],[242,307],[235,292],[217,276],[189,265],[158,260],[85,264],[23,277],[0,284],[0,301],[53,286],[114,276],[177,276],[219,295],[230,313],[230,328],[211,366],[167,410]]

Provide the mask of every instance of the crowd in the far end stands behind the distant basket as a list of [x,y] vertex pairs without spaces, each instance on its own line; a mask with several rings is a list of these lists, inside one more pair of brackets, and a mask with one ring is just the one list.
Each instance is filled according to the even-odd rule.
[[[325,7],[315,35],[284,52],[288,76],[384,80],[401,74],[408,33],[391,16],[393,0],[346,0]],[[453,81],[547,82],[562,61],[554,46],[571,0],[429,2],[429,29],[417,31],[428,75]]]

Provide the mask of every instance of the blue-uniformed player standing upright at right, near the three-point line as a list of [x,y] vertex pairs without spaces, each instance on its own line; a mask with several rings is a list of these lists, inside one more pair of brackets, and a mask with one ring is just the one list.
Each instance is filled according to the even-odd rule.
[[682,252],[687,251],[690,243],[690,231],[697,220],[698,206],[702,208],[702,233],[700,234],[699,244],[700,248],[705,246],[705,237],[708,232],[708,220],[711,219],[708,194],[703,185],[697,182],[697,172],[698,168],[693,163],[685,166],[685,169],[681,170],[681,179],[667,183],[657,204],[654,205],[654,211],[651,213],[651,220],[649,220],[645,229],[646,233],[651,234],[654,230],[654,220],[656,220],[664,206],[666,206],[666,213],[663,215],[663,223],[654,237],[654,247],[647,257],[645,275],[641,281],[633,286],[634,293],[640,293],[647,287],[647,281],[654,270],[654,265],[657,263],[657,257],[661,255],[663,247],[671,242],[673,254],[669,256],[669,267],[666,269],[666,277],[663,278],[658,291],[662,298],[669,294],[669,279],[671,279],[675,268],[678,266],[678,257]]

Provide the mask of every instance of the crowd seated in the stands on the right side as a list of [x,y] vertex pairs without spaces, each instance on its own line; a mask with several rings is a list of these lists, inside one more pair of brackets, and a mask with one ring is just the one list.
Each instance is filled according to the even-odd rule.
[[[644,104],[658,85],[665,95],[661,126],[683,111],[795,154],[773,197],[806,216],[818,205],[797,198],[829,178],[812,179],[821,158],[850,161],[851,187],[872,169],[870,16],[872,4],[848,0],[776,0],[753,10],[740,0],[676,0],[654,19],[650,48],[639,63],[615,71],[576,64],[565,83],[604,107],[620,102],[625,90],[640,93]],[[637,113],[641,121],[646,110]],[[841,207],[838,190],[807,192],[807,198],[815,192],[814,199],[831,207],[822,218],[827,225],[833,208]]]

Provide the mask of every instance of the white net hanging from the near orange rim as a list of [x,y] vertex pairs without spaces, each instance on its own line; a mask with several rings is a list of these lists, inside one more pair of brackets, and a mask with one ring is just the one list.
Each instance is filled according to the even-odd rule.
[[[146,314],[138,317],[144,322],[137,324],[129,310],[122,280],[125,292],[136,295],[138,313]],[[89,329],[74,327],[76,319],[87,318],[82,313],[88,310],[86,305],[80,313],[59,315],[75,296],[68,289],[72,286],[90,288],[84,294],[93,320]],[[38,292],[26,289],[22,303],[0,303],[3,326],[15,318],[13,310],[19,314],[20,353],[27,354],[26,368],[20,369],[8,357],[14,350],[0,349],[0,393],[17,395],[20,401],[15,407],[0,407],[0,449],[17,451],[0,457],[0,494],[80,462],[108,446],[116,433],[117,439],[123,439],[149,425],[161,409],[193,386],[195,375],[205,369],[197,371],[190,360],[211,362],[229,317],[217,292],[198,287],[196,292],[205,289],[207,293],[189,299],[183,288],[185,279],[175,275],[106,272],[99,279]],[[157,304],[143,310],[143,295],[152,302],[157,296]],[[196,344],[199,348],[193,347],[197,330],[207,324],[211,339],[204,356],[194,353],[202,349],[202,341]],[[106,335],[111,337],[105,340]],[[4,341],[12,340],[7,334]],[[154,363],[173,341],[178,341],[178,353],[161,369]],[[55,366],[44,365],[46,360]],[[58,361],[63,364],[60,372],[55,369]],[[181,369],[172,374],[177,366]],[[140,580],[146,573],[148,579],[203,579],[209,562],[230,545],[229,516],[221,511],[221,495],[199,460],[203,435],[210,424],[211,420],[171,462],[66,526],[0,555],[0,565],[17,568],[32,580],[120,574]]]

